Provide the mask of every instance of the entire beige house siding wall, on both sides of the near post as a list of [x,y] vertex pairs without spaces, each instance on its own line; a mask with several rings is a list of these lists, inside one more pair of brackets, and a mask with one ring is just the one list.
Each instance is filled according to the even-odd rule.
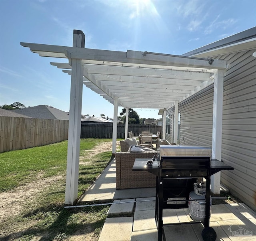
[[[255,51],[255,50],[254,50]],[[212,58],[230,64],[224,77],[222,160],[234,171],[221,182],[256,209],[256,58],[244,51]],[[180,144],[212,145],[213,86],[180,103]]]

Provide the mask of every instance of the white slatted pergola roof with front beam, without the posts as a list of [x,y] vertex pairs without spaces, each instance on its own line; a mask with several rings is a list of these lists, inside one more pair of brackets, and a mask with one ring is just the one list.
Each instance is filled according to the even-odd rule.
[[68,59],[51,63],[71,75],[72,59],[84,64],[84,85],[124,108],[169,109],[214,82],[217,69],[226,69],[220,59],[185,57],[128,50],[109,51],[36,43],[21,43],[44,57]]

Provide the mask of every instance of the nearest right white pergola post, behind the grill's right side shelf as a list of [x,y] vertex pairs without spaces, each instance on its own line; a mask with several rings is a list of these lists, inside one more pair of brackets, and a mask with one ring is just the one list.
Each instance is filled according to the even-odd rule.
[[[222,144],[223,78],[224,70],[216,70],[213,94],[212,159],[219,161]],[[211,191],[213,194],[220,194],[220,172],[211,176]]]

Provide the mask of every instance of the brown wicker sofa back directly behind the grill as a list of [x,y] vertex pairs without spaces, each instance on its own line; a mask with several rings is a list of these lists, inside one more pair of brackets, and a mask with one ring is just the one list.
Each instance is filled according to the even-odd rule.
[[152,158],[156,151],[116,152],[116,189],[149,188],[156,186],[156,176],[145,171],[132,171],[136,158]]

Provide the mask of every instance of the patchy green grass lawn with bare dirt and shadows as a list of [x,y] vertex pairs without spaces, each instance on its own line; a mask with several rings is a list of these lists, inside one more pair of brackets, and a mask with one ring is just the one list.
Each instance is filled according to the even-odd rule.
[[[78,198],[108,165],[112,150],[88,153],[109,141],[81,139]],[[0,197],[8,204],[0,215],[0,240],[98,240],[109,206],[64,209],[67,143],[0,153]]]

